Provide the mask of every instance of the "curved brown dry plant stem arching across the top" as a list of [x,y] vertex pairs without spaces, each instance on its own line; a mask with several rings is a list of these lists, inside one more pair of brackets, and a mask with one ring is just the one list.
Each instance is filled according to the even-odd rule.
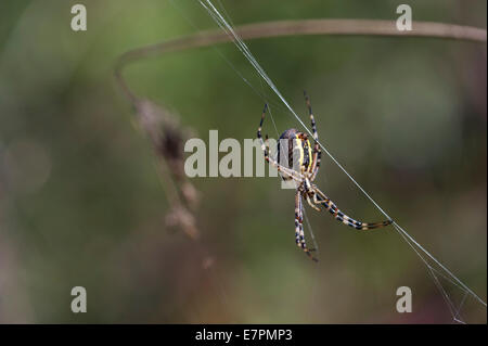
[[[393,37],[429,37],[463,41],[486,42],[486,29],[446,23],[413,22],[411,31],[400,31],[394,21],[370,20],[304,20],[278,21],[243,25],[235,28],[242,39],[300,35],[344,35],[344,36],[393,36]],[[200,31],[194,35],[176,38],[156,44],[145,46],[123,54],[116,66],[116,77],[126,95],[134,102],[137,97],[126,85],[121,69],[132,61],[143,57],[183,51],[198,47],[209,47],[232,41],[221,29]]]

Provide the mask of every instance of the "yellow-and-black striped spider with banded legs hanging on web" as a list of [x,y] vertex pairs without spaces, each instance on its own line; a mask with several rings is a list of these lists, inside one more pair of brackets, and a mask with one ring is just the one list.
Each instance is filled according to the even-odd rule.
[[[314,248],[308,248],[305,242],[304,227],[303,227],[303,204],[301,200],[305,198],[307,203],[316,210],[321,212],[319,206],[323,206],[325,210],[329,210],[333,217],[350,226],[357,230],[372,230],[388,226],[393,220],[386,220],[383,222],[365,223],[360,222],[341,212],[337,206],[332,202],[319,188],[312,183],[316,179],[320,168],[321,150],[319,146],[319,134],[317,133],[316,120],[313,118],[310,99],[304,92],[305,101],[307,103],[308,113],[310,115],[310,121],[313,133],[313,149],[311,149],[308,134],[299,132],[296,129],[287,129],[280,136],[278,144],[278,159],[273,159],[269,156],[268,134],[266,134],[266,141],[262,140],[261,129],[265,116],[268,110],[268,104],[265,104],[262,111],[261,120],[257,131],[257,138],[260,140],[261,149],[265,152],[265,159],[268,164],[271,164],[278,169],[280,176],[285,181],[294,181],[296,185],[295,192],[295,242],[312,260],[318,261],[316,257],[311,255]],[[281,148],[281,144],[287,144],[286,149]],[[286,145],[285,145],[286,146]],[[282,165],[281,161],[286,164]],[[294,165],[295,164],[295,165]]]

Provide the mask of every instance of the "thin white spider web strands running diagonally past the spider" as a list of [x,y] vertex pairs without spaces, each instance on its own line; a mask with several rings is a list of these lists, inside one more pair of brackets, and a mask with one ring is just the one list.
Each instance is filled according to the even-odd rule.
[[[251,63],[251,65],[254,67],[256,73],[259,76],[259,82],[260,82],[260,91],[257,90],[253,86],[252,82],[249,82],[248,79],[246,79],[239,71],[237,68],[217,49],[214,47],[214,50],[217,51],[217,53],[223,59],[223,61],[242,78],[242,80],[262,100],[266,100],[269,104],[269,106],[272,104],[274,107],[280,110],[285,110],[287,114],[290,114],[296,121],[300,124],[300,126],[310,134],[312,136],[312,132],[310,129],[304,124],[304,121],[299,118],[297,113],[294,111],[294,108],[290,105],[287,100],[282,95],[278,87],[274,85],[272,79],[268,76],[268,74],[265,72],[265,69],[261,67],[261,65],[258,63],[256,57],[253,55],[251,50],[248,49],[247,44],[243,41],[243,39],[235,33],[234,25],[232,23],[231,17],[227,13],[226,9],[223,8],[220,0],[216,0],[219,4],[220,11],[214,5],[211,0],[196,0],[203,9],[205,9],[208,13],[208,15],[213,18],[213,21],[224,31],[229,37],[232,39],[235,47],[240,50],[240,52],[245,56],[245,59]],[[170,2],[176,7],[175,2],[170,0]],[[177,8],[177,7],[176,7]],[[179,10],[180,11],[180,10]],[[182,12],[182,11],[180,11]],[[223,13],[223,15],[222,15]],[[185,15],[183,15],[185,20],[195,28],[197,28],[193,22]],[[198,28],[197,28],[198,29]],[[269,102],[269,98],[266,94],[266,91],[262,86],[262,80],[269,86],[269,88],[272,90],[272,92],[280,99],[280,104],[275,104],[272,102]],[[284,107],[283,107],[284,105]],[[270,117],[273,124],[273,127],[277,131],[277,136],[279,137],[278,127],[275,125],[274,118],[272,116],[271,107],[270,107]],[[401,240],[404,241],[409,247],[418,255],[418,257],[422,260],[422,262],[425,265],[429,277],[432,278],[435,286],[439,291],[442,299],[445,300],[449,312],[451,315],[452,321],[458,323],[465,323],[464,320],[461,317],[461,310],[465,306],[466,300],[471,297],[485,308],[487,307],[487,304],[485,300],[483,300],[476,293],[474,293],[464,282],[462,282],[457,275],[454,275],[442,262],[440,262],[436,257],[434,257],[423,245],[421,245],[412,235],[410,235],[397,221],[395,221],[385,210],[382,208],[382,206],[373,200],[373,197],[358,183],[358,181],[345,169],[345,167],[335,158],[334,155],[325,148],[325,145],[318,141],[320,148],[325,152],[325,154],[333,161],[333,163],[348,177],[348,179],[361,191],[362,194],[382,213],[387,219],[391,220],[391,226],[394,227],[395,231],[400,235]],[[318,249],[318,244],[313,234],[313,230],[311,228],[311,225],[308,220],[307,215],[304,210],[304,216],[307,222],[307,229],[310,232],[312,242],[314,247]],[[445,282],[442,284],[442,281]],[[463,295],[460,299],[460,302],[454,303],[454,299],[451,294],[448,293],[446,289],[446,283],[449,283],[453,285],[454,287],[458,287],[463,292]],[[316,291],[316,290],[313,290]]]

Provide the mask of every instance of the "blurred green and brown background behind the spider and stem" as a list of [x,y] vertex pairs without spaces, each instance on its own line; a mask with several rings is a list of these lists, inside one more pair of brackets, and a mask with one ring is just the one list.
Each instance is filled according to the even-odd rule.
[[[85,33],[69,27],[77,2],[88,10]],[[239,25],[394,20],[401,2],[222,3]],[[409,4],[414,20],[486,28],[486,1]],[[155,153],[113,71],[125,51],[195,26],[216,28],[193,0],[0,2],[0,322],[451,323],[425,266],[393,229],[355,232],[308,208],[320,258],[311,262],[294,244],[293,191],[277,178],[193,179],[202,240],[165,227]],[[486,44],[288,37],[249,48],[304,120],[308,91],[322,142],[486,299]],[[195,137],[218,129],[243,142],[264,100],[222,55],[271,94],[232,44],[140,61],[125,76]],[[280,131],[299,126],[279,108],[273,116]],[[271,121],[267,129],[275,136]],[[322,163],[318,184],[342,209],[383,218],[325,155]],[[87,313],[70,311],[77,285],[88,291]],[[396,312],[402,285],[412,289],[412,313]],[[467,298],[461,317],[486,323],[486,307]]]

